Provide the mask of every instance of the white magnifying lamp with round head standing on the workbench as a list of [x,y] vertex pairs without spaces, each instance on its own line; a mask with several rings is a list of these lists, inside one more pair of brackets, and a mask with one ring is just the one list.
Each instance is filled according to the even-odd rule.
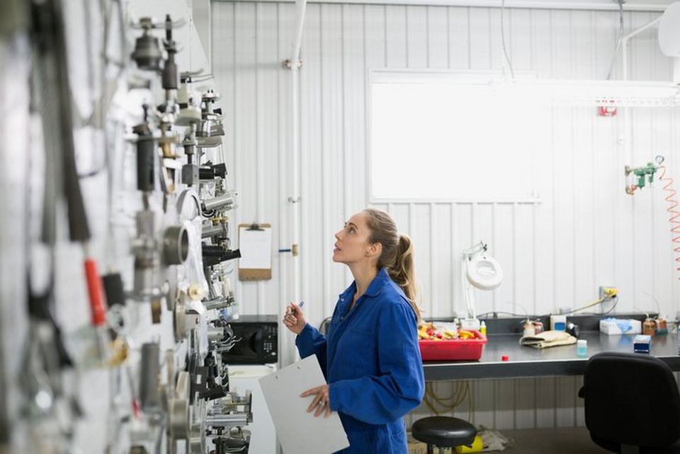
[[460,320],[463,329],[480,329],[480,320],[475,314],[473,287],[480,290],[494,290],[503,280],[500,263],[487,254],[487,244],[480,242],[463,252],[460,266],[460,282],[465,295],[465,318]]

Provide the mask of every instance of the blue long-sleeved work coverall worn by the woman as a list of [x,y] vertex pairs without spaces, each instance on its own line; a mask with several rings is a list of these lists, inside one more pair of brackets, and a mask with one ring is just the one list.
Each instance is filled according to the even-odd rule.
[[350,444],[339,453],[407,454],[402,416],[425,389],[416,314],[385,268],[349,310],[355,293],[352,283],[340,295],[327,336],[307,324],[295,344],[302,358],[316,354],[326,375]]

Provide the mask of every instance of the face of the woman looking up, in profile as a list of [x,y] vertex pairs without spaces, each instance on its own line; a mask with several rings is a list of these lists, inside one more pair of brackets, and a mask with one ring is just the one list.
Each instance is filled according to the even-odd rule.
[[378,245],[370,244],[370,230],[366,223],[365,212],[358,212],[345,222],[345,226],[335,234],[333,261],[338,263],[357,263],[363,260],[378,260],[375,256]]

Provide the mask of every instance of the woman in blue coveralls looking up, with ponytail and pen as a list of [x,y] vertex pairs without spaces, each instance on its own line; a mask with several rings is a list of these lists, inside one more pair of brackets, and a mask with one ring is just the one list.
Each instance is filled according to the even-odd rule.
[[342,454],[407,454],[402,416],[420,404],[425,387],[411,240],[380,210],[353,215],[335,237],[333,261],[345,263],[354,282],[340,295],[327,336],[295,303],[283,318],[300,356],[315,354],[328,382],[302,397],[313,396],[307,412],[314,416],[338,412],[350,444]]

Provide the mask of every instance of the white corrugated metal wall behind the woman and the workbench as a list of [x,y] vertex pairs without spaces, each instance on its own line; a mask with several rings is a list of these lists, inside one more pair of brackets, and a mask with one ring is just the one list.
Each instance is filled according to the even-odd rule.
[[[288,70],[292,4],[212,4],[212,62],[225,110],[227,165],[239,189],[237,222],[271,222],[273,279],[238,283],[242,313],[277,313],[290,295],[285,254],[290,230]],[[625,13],[627,30],[657,13]],[[604,79],[618,33],[618,13],[507,11],[515,71],[543,78]],[[630,77],[669,80],[671,64],[652,30],[630,42]],[[366,175],[366,78],[372,68],[502,69],[498,8],[310,4],[302,36],[300,130],[302,298],[311,322],[331,314],[351,280],[331,261],[333,233],[369,204]],[[620,60],[619,60],[620,61]],[[620,65],[614,78],[621,74]],[[458,257],[484,239],[504,266],[502,286],[478,293],[478,312],[546,313],[594,300],[598,285],[620,289],[618,310],[677,312],[667,202],[660,186],[630,198],[623,166],[664,154],[676,164],[679,123],[670,109],[630,111],[628,156],[623,115],[594,108],[553,108],[538,157],[541,202],[391,203],[416,246],[426,317],[460,307]],[[464,127],[464,125],[461,125]],[[452,169],[452,177],[455,169]],[[517,175],[517,178],[526,176]],[[278,240],[278,242],[277,242]],[[292,336],[283,361],[293,359]],[[290,338],[290,339],[289,339]],[[476,424],[498,429],[582,425],[581,378],[471,382]],[[442,395],[451,386],[437,385]],[[466,416],[465,402],[456,414]],[[472,409],[472,408],[470,408]],[[422,409],[422,412],[426,412]]]

